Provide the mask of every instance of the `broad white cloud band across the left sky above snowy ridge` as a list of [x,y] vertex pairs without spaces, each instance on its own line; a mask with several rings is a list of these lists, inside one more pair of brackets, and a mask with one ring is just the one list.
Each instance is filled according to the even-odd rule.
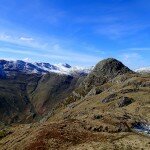
[[[81,44],[80,49],[86,50],[87,53],[75,48],[74,41],[45,37],[38,39],[35,36],[20,36],[17,34],[0,33],[0,40],[8,43],[0,46],[0,52],[3,54],[16,54],[16,56],[26,61],[29,58],[34,60],[55,62],[66,62],[72,64],[94,65],[102,59],[103,51],[88,44]],[[12,46],[11,46],[12,45]],[[17,45],[17,46],[16,46]],[[76,50],[77,49],[77,50]],[[94,52],[94,53],[93,53]],[[95,55],[96,53],[96,55]],[[100,53],[100,55],[97,55]],[[34,61],[33,60],[33,61]]]

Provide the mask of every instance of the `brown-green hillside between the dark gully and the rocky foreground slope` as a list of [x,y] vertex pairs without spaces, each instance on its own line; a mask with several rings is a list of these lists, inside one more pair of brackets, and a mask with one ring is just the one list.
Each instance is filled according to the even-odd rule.
[[39,114],[45,114],[76,87],[79,77],[59,74],[46,74],[31,95],[31,102]]

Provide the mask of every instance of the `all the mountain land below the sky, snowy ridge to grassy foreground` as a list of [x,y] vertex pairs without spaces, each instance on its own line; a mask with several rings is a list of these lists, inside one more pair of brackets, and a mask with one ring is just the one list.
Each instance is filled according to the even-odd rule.
[[114,58],[88,72],[68,64],[0,64],[0,149],[150,149],[149,73]]

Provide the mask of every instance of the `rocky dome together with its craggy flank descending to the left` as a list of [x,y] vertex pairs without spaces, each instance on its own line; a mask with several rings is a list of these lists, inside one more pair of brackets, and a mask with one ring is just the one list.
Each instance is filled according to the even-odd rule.
[[[85,80],[81,82],[78,89],[76,89],[76,93],[79,93],[81,98],[85,95],[95,95],[96,92],[94,94],[92,90],[94,87],[101,86],[116,76],[126,73],[132,74],[134,72],[114,58],[104,59],[100,61]],[[97,94],[100,92],[102,92],[101,89]]]

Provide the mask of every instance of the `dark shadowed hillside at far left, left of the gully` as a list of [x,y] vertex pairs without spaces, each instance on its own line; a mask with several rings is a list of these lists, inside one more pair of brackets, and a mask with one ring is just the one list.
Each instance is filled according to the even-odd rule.
[[[5,123],[16,122],[32,115],[33,106],[28,91],[32,91],[39,77],[20,74],[16,78],[0,79],[0,117]],[[32,86],[27,89],[27,85]]]

